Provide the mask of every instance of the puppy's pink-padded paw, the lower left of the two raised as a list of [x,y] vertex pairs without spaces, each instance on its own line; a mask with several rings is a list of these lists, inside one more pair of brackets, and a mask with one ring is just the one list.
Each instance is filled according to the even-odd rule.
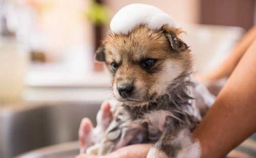
[[92,141],[92,132],[93,124],[91,120],[83,118],[78,132],[80,153],[85,153],[87,148],[94,144]]

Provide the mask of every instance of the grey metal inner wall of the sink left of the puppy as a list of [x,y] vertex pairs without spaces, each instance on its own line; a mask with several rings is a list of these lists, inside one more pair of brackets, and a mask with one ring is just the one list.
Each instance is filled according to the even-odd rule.
[[99,103],[52,103],[0,110],[0,157],[77,140],[83,117],[95,124]]

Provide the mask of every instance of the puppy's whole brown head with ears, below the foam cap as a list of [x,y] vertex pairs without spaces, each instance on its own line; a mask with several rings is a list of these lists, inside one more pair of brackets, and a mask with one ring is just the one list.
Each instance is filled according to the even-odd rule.
[[187,45],[179,29],[145,25],[127,35],[110,33],[96,51],[112,74],[114,96],[127,105],[142,105],[168,93],[174,79],[191,70]]

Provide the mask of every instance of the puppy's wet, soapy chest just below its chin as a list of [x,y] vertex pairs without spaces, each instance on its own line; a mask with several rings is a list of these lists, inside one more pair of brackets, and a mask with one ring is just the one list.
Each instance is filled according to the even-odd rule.
[[164,132],[175,132],[174,129],[179,130],[181,125],[190,124],[192,119],[183,113],[186,108],[177,108],[168,101],[135,107],[120,105],[108,131],[119,134],[119,137],[115,135],[116,141],[126,136],[136,137],[129,144],[155,143]]

